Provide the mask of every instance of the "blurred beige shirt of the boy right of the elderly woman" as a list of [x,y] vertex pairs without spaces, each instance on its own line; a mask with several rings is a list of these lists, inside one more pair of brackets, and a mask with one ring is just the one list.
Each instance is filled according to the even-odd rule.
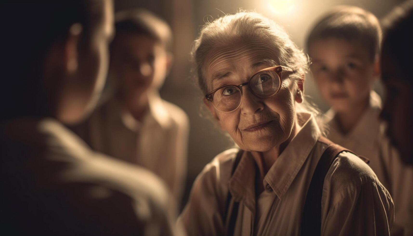
[[380,121],[382,108],[380,96],[371,91],[368,109],[354,129],[347,134],[339,131],[335,111],[325,114],[325,124],[330,127],[328,138],[358,155],[370,159],[380,182],[389,190],[394,201],[394,227],[392,235],[413,235],[413,168],[401,163],[396,150],[385,136],[385,124]]

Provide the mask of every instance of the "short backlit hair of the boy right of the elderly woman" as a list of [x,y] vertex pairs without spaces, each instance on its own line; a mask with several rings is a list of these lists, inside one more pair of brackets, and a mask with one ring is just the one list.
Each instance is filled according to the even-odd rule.
[[317,40],[341,38],[360,42],[373,62],[380,52],[381,37],[380,23],[371,12],[360,7],[338,6],[324,14],[313,27],[306,41],[306,50]]

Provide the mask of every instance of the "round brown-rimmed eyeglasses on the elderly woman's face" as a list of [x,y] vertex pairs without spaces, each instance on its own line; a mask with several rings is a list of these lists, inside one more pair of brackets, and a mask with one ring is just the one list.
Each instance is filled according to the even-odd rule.
[[242,87],[249,85],[248,88],[252,94],[259,98],[268,98],[280,90],[281,72],[293,72],[292,69],[284,66],[275,66],[262,69],[255,73],[246,83],[240,85],[225,85],[207,93],[205,98],[214,105],[214,107],[224,113],[237,110],[242,101]]

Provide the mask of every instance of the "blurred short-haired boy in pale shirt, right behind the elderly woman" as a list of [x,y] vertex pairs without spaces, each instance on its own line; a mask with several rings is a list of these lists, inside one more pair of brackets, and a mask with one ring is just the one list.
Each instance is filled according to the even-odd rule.
[[406,178],[413,178],[413,169],[400,162],[379,119],[382,101],[373,83],[380,76],[381,37],[372,13],[338,6],[318,20],[306,45],[313,78],[331,105],[324,120],[330,128],[327,137],[370,159],[371,169],[394,201],[392,235],[401,235],[412,228],[413,212],[405,211],[405,206],[413,203],[413,181]]

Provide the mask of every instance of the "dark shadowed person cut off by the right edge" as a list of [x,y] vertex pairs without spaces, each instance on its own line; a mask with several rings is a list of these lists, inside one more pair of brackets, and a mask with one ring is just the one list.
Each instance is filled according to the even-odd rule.
[[[401,161],[413,167],[413,1],[395,7],[382,23],[385,36],[380,69],[386,99],[381,117],[388,124],[387,135],[399,150]],[[397,187],[405,196],[404,201],[394,202],[395,223],[407,226],[404,235],[413,235],[413,175],[400,174]]]

